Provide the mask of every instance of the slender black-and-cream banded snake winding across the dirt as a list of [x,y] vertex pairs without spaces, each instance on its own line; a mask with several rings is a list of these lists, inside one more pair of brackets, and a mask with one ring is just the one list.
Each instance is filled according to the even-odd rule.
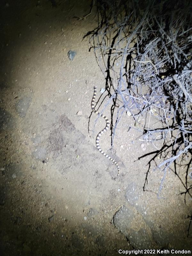
[[95,110],[95,98],[96,98],[96,95],[97,95],[97,88],[96,88],[96,86],[94,86],[94,93],[93,93],[93,98],[92,98],[92,102],[91,102],[92,111],[93,111],[95,114],[97,114],[98,116],[103,117],[103,118],[105,119],[105,121],[106,121],[106,126],[105,126],[105,128],[97,134],[96,141],[95,141],[95,142],[96,142],[96,147],[97,147],[97,149],[100,151],[100,153],[101,153],[103,156],[107,157],[109,160],[111,160],[111,161],[116,165],[117,170],[118,170],[118,172],[117,172],[117,176],[118,176],[118,175],[119,175],[119,170],[120,170],[120,169],[119,169],[119,165],[117,164],[117,162],[115,161],[115,159],[113,159],[112,157],[108,156],[108,155],[100,148],[100,144],[99,144],[100,137],[101,137],[101,135],[102,135],[104,132],[106,132],[106,131],[108,130],[108,128],[109,128],[109,126],[110,126],[110,122],[109,122],[109,119],[107,118],[107,116],[104,116],[103,114],[101,114],[100,112],[97,112],[97,111]]

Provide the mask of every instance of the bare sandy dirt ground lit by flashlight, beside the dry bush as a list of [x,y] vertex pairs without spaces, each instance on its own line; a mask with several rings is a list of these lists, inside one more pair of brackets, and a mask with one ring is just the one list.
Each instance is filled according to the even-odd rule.
[[[127,132],[132,117],[123,116],[111,150],[109,131],[100,140],[119,163],[118,177],[95,146],[105,121],[88,133],[93,86],[97,97],[105,87],[82,41],[97,25],[94,10],[74,18],[89,12],[90,2],[51,2],[1,1],[1,255],[190,255],[171,250],[192,252],[192,200],[179,195],[184,188],[172,171],[160,198],[161,171],[150,172],[143,191],[150,157],[138,157],[155,148]],[[69,50],[76,52],[72,61]]]

